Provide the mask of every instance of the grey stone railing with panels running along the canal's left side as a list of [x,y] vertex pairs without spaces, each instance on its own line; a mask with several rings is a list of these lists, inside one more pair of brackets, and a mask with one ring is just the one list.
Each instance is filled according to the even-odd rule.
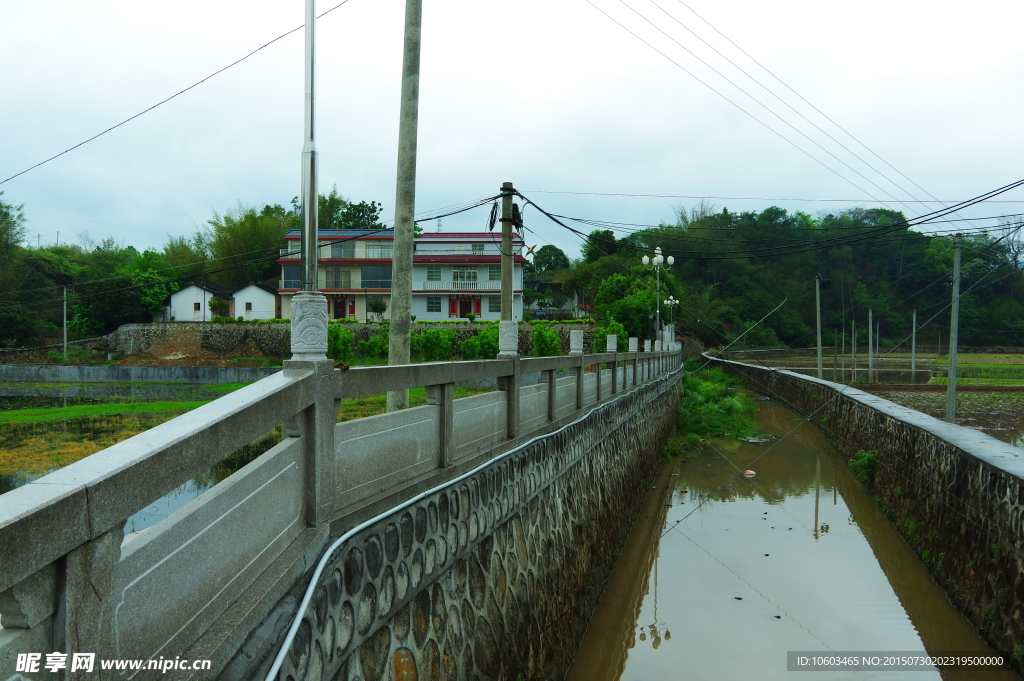
[[[273,607],[331,537],[682,359],[678,348],[639,352],[632,342],[632,352],[585,355],[582,331],[569,356],[519,358],[513,329],[500,359],[340,371],[324,357],[326,306],[300,302],[296,358],[282,372],[0,496],[0,679],[14,676],[17,653],[54,650],[69,661],[209,659],[200,676],[230,676],[243,645],[262,645],[250,633],[272,629]],[[547,382],[521,387],[536,372]],[[454,399],[457,382],[486,378],[498,391]],[[418,386],[426,406],[336,423],[342,398]],[[140,509],[279,425],[281,443],[125,536]]]

